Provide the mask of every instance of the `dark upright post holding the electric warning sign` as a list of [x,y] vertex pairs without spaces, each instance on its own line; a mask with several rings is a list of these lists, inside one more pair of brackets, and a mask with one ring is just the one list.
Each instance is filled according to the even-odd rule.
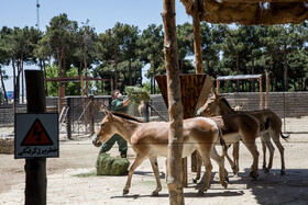
[[[28,113],[45,113],[46,96],[41,70],[25,70]],[[46,158],[25,159],[25,205],[46,204]]]

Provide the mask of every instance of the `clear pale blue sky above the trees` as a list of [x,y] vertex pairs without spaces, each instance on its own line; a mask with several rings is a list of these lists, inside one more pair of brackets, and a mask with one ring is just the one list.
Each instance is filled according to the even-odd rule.
[[[37,0],[0,0],[0,27],[13,29],[36,26]],[[163,0],[38,0],[38,29],[46,31],[52,18],[66,13],[68,20],[82,22],[89,20],[89,25],[97,33],[114,26],[117,22],[135,25],[141,31],[150,24],[163,24]],[[176,0],[176,24],[193,22],[185,12],[185,7]],[[25,69],[35,69],[35,66]],[[12,76],[12,68],[6,71]],[[13,90],[12,79],[6,81],[6,89]]]

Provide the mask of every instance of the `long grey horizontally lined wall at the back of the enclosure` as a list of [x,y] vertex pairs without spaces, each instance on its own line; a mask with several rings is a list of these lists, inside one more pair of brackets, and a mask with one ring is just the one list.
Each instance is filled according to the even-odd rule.
[[[95,96],[96,101],[110,96]],[[243,104],[244,111],[258,110],[260,93],[255,92],[238,92],[226,95],[231,105]],[[75,105],[81,104],[80,96],[74,96]],[[47,98],[47,111],[56,112],[57,98]],[[67,102],[67,101],[66,101]],[[151,104],[154,109],[151,109],[150,116],[163,115],[168,121],[168,110],[161,94],[151,95]],[[263,107],[265,107],[265,93],[263,93]],[[184,107],[185,109],[185,107]],[[301,117],[308,116],[308,92],[271,92],[268,109],[277,113],[280,117]],[[25,113],[26,105],[18,105],[16,113]],[[76,116],[81,109],[76,110]],[[138,112],[135,112],[138,115]],[[99,116],[98,118],[101,118]],[[160,117],[160,121],[164,121]],[[0,126],[13,126],[13,106],[12,104],[0,105]]]

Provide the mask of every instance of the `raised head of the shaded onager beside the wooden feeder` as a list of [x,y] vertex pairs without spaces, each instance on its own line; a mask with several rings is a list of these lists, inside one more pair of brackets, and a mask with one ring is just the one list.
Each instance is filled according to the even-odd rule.
[[197,111],[197,116],[209,117],[221,115],[220,100],[222,98],[223,95],[217,95],[215,93],[207,100],[206,104]]

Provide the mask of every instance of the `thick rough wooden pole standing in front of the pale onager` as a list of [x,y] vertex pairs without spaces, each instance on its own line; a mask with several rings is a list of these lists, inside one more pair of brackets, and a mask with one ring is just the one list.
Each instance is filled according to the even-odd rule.
[[164,0],[164,53],[167,71],[169,144],[167,160],[167,185],[169,204],[184,204],[183,195],[183,106],[178,68],[177,36],[175,24],[175,0]]

